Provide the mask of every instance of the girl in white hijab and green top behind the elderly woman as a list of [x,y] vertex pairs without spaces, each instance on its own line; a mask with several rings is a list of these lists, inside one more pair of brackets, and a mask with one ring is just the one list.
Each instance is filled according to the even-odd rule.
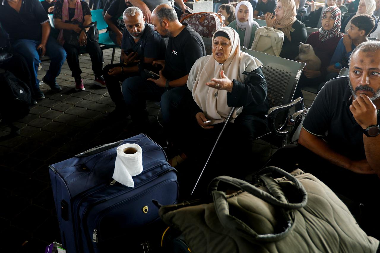
[[256,29],[259,25],[256,21],[253,21],[253,9],[252,5],[248,1],[241,1],[235,8],[236,20],[228,24],[232,27],[240,38],[240,45],[251,48],[252,42],[255,39]]

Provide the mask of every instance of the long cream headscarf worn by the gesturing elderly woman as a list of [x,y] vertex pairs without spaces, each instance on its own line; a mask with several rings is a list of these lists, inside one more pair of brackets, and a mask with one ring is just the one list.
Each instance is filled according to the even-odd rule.
[[[231,53],[228,59],[220,65],[213,55],[201,57],[194,63],[187,79],[187,87],[193,93],[194,101],[202,109],[206,118],[212,120],[213,125],[224,122],[231,107],[227,105],[228,92],[207,86],[206,82],[210,82],[212,78],[221,78],[222,70],[230,80],[243,82],[246,77],[242,74],[244,71],[251,72],[263,65],[255,57],[240,51],[239,35],[231,27],[218,29],[212,36],[212,41],[219,31],[225,32],[230,37]],[[233,119],[236,119],[241,111],[242,108],[237,108],[232,115]]]

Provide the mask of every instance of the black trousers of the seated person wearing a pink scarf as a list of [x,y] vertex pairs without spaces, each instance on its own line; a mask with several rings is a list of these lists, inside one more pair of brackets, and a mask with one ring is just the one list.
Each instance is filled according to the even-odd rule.
[[[78,58],[81,47],[73,46],[65,42],[63,43],[63,48],[67,53],[66,60],[71,70],[71,76],[75,79],[81,78],[82,70],[79,66]],[[86,52],[88,52],[91,57],[92,71],[95,76],[100,76],[102,74],[103,55],[99,44],[87,40]]]

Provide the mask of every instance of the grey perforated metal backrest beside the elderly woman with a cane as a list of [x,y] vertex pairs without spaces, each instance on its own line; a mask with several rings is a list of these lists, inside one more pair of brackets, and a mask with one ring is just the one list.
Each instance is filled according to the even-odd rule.
[[[267,100],[270,107],[288,104],[293,101],[294,91],[305,63],[264,54],[244,47],[242,47],[242,51],[263,63],[262,69],[267,82]],[[277,116],[276,127],[280,128],[286,123],[287,115],[287,113],[284,113]]]

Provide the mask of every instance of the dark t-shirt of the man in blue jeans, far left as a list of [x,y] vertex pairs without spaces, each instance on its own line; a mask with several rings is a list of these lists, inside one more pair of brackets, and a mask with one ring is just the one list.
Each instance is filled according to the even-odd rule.
[[19,13],[9,6],[6,0],[0,2],[0,23],[11,40],[40,41],[41,24],[48,21],[46,12],[38,0],[22,0]]

